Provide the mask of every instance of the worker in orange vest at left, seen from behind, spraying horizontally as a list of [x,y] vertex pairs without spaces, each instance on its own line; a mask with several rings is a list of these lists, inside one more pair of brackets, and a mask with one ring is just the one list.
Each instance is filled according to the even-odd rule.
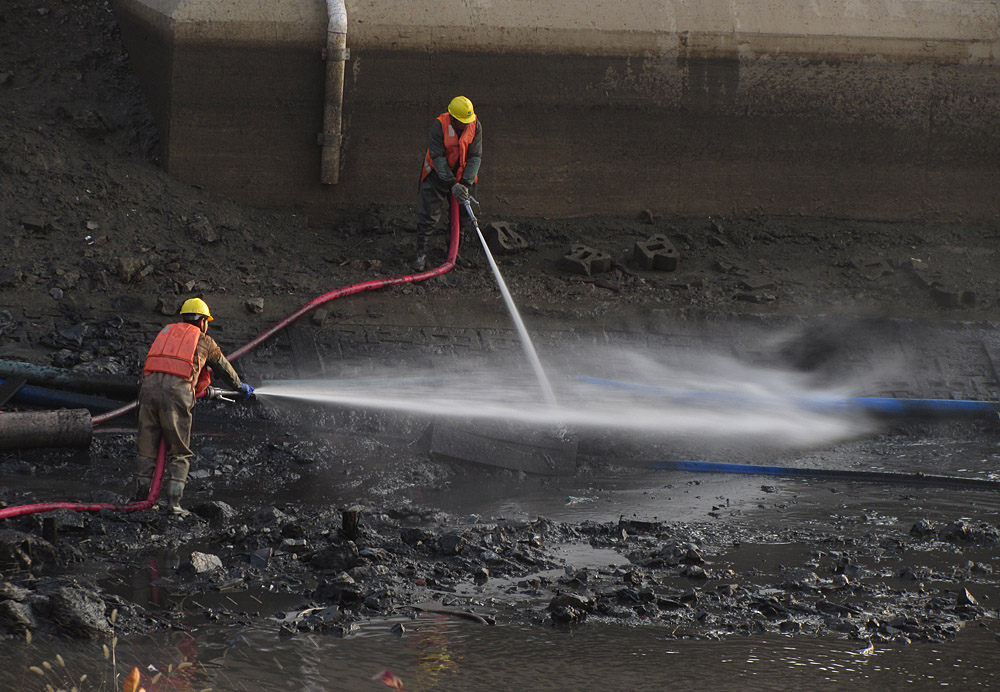
[[136,437],[138,466],[136,499],[145,499],[156,470],[156,453],[163,439],[167,446],[167,511],[178,516],[184,484],[191,464],[191,420],[195,399],[212,382],[214,369],[233,389],[250,398],[253,387],[240,381],[222,349],[210,337],[208,323],[214,318],[201,298],[181,306],[181,322],[168,324],[153,341],[142,369],[139,388],[139,434]]

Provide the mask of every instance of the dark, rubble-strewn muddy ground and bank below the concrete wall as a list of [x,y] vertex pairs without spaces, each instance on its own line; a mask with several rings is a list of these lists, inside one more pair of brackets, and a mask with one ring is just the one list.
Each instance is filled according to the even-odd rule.
[[[164,175],[105,3],[14,0],[0,9],[0,31],[0,358],[135,376],[158,326],[188,297],[209,301],[213,334],[231,352],[333,288],[409,273],[413,208],[373,199],[319,228]],[[489,184],[488,158],[482,179]],[[867,378],[870,395],[1000,391],[997,229],[654,218],[639,209],[630,218],[481,215],[484,226],[503,223],[526,240],[500,263],[549,347],[704,345],[815,382]],[[637,263],[636,243],[654,235],[673,243],[676,270]],[[580,244],[606,253],[607,271],[588,276],[561,261]],[[259,384],[382,365],[445,370],[470,350],[517,354],[482,250],[466,240],[462,254],[471,268],[328,303],[237,368]],[[873,377],[868,366],[888,350],[903,355],[898,367]],[[755,461],[988,479],[994,423],[879,423],[828,450],[740,451]],[[123,416],[103,426],[83,451],[3,452],[0,502],[121,500],[133,424]],[[428,429],[419,417],[350,407],[204,404],[187,502],[196,515],[7,520],[0,624],[10,636],[127,634],[206,618],[347,633],[362,619],[424,607],[486,621],[656,623],[673,636],[940,640],[969,623],[997,627],[995,494],[873,495],[862,484],[733,485],[676,473],[648,479],[670,489],[657,495],[657,511],[635,500],[642,491],[563,519],[487,514],[448,495],[497,488],[493,508],[519,494],[585,502],[580,488],[616,497],[608,479],[635,490],[647,476],[625,467],[668,453],[670,440],[582,436],[567,481],[436,457]],[[698,501],[682,511],[674,496],[692,489]],[[868,510],[873,502],[888,503],[893,520]],[[796,514],[796,505],[810,509]],[[351,507],[362,517],[357,532],[343,529]],[[615,559],[595,557],[608,554]]]

